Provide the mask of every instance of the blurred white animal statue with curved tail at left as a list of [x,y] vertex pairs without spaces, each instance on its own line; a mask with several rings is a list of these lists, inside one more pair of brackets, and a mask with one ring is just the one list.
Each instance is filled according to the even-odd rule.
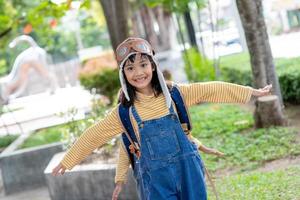
[[47,53],[28,35],[16,37],[9,47],[13,48],[20,42],[27,42],[30,47],[22,51],[16,58],[11,72],[0,78],[1,97],[4,102],[19,97],[25,90],[29,79],[29,70],[33,69],[48,80],[50,92],[54,92],[57,83],[55,76],[47,69]]

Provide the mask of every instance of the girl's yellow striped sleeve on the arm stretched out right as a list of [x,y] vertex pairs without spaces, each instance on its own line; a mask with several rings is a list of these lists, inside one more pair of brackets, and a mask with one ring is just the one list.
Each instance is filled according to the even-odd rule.
[[179,88],[187,106],[200,102],[247,103],[253,88],[221,81],[181,84]]

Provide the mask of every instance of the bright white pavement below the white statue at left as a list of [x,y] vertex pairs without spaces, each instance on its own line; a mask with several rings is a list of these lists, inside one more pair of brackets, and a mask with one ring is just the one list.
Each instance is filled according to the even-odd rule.
[[92,95],[81,87],[60,88],[55,94],[40,93],[14,99],[4,106],[4,110],[13,112],[0,116],[0,135],[31,132],[66,123],[70,119],[59,114],[71,108],[78,109],[75,119],[82,119],[90,110],[91,99]]

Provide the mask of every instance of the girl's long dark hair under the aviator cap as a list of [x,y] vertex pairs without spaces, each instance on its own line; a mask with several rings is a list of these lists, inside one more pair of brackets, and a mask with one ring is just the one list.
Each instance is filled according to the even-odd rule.
[[[159,80],[158,80],[158,76],[157,76],[157,66],[156,64],[154,63],[153,59],[151,56],[147,55],[147,54],[142,54],[141,55],[142,57],[144,56],[147,56],[147,58],[149,59],[154,71],[152,72],[152,79],[151,79],[151,86],[152,86],[152,89],[154,91],[154,95],[157,97],[159,96],[161,93],[162,93],[162,89],[161,89],[161,86],[160,86],[160,83],[159,83]],[[135,60],[135,57],[136,57],[136,54],[133,54],[131,55],[128,59],[130,60],[130,62],[134,62]],[[123,68],[124,69],[124,68]],[[122,70],[122,73],[123,73],[123,77],[126,81],[126,86],[127,86],[127,92],[128,92],[128,96],[130,98],[130,100],[128,101],[125,97],[125,94],[122,90],[120,90],[120,93],[119,93],[119,102],[124,105],[124,106],[127,106],[127,107],[130,107],[133,105],[133,102],[134,100],[136,99],[136,89],[135,87],[133,87],[127,80],[126,76],[125,76],[125,73],[124,73],[124,70]]]

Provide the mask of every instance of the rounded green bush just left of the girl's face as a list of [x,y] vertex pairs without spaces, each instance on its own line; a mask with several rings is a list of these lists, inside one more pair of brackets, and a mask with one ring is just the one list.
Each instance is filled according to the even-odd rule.
[[107,96],[111,104],[120,88],[118,69],[103,68],[97,73],[81,74],[79,80],[86,89],[95,88],[97,93]]

